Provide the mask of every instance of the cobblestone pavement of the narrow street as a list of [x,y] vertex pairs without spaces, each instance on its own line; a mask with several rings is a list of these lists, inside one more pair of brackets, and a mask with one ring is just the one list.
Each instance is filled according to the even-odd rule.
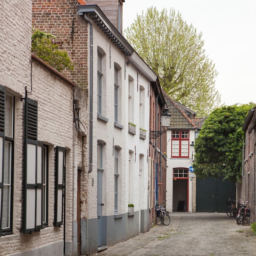
[[249,224],[237,225],[226,213],[170,213],[171,224],[94,255],[99,256],[256,256],[256,236]]

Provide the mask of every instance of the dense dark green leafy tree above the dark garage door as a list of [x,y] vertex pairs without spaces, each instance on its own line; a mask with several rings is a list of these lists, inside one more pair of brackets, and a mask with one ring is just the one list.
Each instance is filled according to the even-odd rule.
[[254,103],[216,108],[195,140],[195,174],[240,181],[243,164],[243,124]]

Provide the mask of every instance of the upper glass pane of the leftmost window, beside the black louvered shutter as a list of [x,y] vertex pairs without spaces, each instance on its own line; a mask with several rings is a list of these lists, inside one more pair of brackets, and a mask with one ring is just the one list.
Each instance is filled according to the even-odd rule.
[[5,99],[4,122],[4,135],[13,137],[13,96],[8,93]]

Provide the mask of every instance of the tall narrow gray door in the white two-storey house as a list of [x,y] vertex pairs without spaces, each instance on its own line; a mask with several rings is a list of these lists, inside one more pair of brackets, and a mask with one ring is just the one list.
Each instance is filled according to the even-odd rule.
[[98,216],[98,247],[102,245],[102,175],[103,171],[97,172],[97,216]]

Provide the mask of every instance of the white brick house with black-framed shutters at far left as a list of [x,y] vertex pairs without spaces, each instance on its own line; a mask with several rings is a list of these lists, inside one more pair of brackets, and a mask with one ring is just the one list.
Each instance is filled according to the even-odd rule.
[[1,13],[0,255],[62,256],[72,240],[75,84],[31,57],[30,0],[4,1]]

